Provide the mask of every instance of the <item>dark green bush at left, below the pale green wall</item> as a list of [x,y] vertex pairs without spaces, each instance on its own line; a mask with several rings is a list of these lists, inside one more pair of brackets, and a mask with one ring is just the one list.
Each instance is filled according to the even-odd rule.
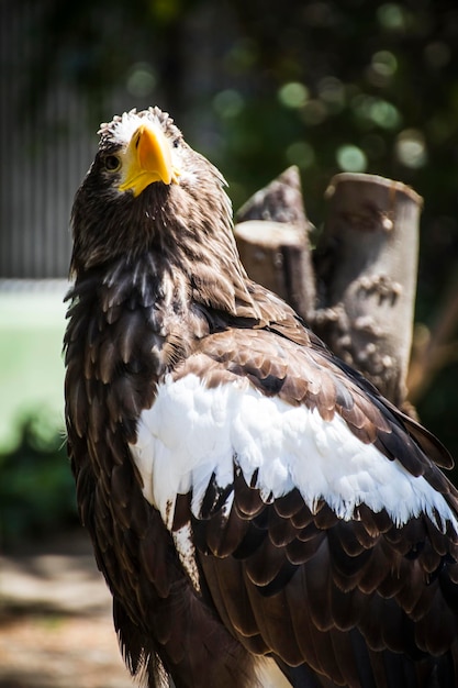
[[21,423],[15,450],[0,454],[3,543],[62,532],[78,522],[64,436],[41,412]]

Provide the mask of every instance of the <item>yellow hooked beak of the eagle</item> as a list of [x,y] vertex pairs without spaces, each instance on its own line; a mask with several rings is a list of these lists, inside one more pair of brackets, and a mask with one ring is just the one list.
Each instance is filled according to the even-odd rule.
[[124,154],[120,191],[133,191],[139,196],[155,181],[171,184],[178,173],[171,164],[170,144],[160,129],[142,124],[131,138]]

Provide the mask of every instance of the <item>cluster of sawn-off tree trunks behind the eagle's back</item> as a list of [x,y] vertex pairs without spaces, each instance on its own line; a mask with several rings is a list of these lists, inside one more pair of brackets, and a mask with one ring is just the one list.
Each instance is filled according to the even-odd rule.
[[[287,300],[393,403],[406,397],[422,199],[399,181],[342,174],[311,259],[299,174],[290,168],[238,212],[248,275]],[[316,291],[319,304],[316,306]]]

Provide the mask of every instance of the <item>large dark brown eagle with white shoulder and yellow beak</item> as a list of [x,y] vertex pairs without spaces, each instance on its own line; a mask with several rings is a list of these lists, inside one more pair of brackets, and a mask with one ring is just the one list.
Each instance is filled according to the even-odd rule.
[[66,424],[131,674],[456,687],[448,452],[248,278],[224,178],[166,112],[99,134],[71,213]]

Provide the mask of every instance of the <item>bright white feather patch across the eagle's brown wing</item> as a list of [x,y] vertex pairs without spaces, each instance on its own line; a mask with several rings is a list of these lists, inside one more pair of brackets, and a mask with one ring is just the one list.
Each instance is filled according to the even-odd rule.
[[324,421],[317,411],[265,397],[245,380],[208,389],[198,376],[169,376],[143,411],[131,451],[145,499],[169,529],[177,493],[192,490],[192,512],[199,515],[212,475],[224,488],[235,465],[248,485],[257,471],[265,500],[297,487],[310,509],[324,499],[345,520],[365,503],[375,512],[386,509],[396,525],[424,512],[440,530],[450,521],[458,531],[440,493],[360,442],[337,413]]

